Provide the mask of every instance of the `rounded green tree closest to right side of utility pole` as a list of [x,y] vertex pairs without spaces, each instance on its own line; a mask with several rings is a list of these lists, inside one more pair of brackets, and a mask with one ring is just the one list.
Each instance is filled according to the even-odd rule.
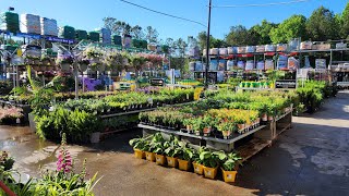
[[251,42],[250,33],[242,25],[231,26],[230,32],[226,35],[226,41],[230,46],[246,46]]

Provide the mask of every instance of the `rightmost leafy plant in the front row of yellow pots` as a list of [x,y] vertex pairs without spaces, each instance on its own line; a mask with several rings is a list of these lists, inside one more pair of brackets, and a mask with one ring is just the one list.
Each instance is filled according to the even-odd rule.
[[230,152],[228,155],[221,155],[219,156],[219,160],[221,161],[221,172],[222,172],[222,179],[226,183],[236,182],[236,176],[238,173],[238,166],[239,160],[241,160],[241,157],[239,157],[234,152]]

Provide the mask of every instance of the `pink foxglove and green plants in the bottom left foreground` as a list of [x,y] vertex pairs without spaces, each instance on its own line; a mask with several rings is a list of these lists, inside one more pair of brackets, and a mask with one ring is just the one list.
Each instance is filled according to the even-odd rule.
[[[100,179],[97,173],[91,179],[87,177],[86,159],[83,162],[82,171],[76,171],[74,161],[67,149],[64,134],[59,149],[56,170],[39,171],[39,177],[31,177],[26,182],[17,182],[20,173],[13,168],[14,159],[7,151],[0,151],[0,182],[7,187],[0,188],[0,195],[34,195],[34,196],[93,196],[93,188]],[[11,192],[11,193],[10,193]]]

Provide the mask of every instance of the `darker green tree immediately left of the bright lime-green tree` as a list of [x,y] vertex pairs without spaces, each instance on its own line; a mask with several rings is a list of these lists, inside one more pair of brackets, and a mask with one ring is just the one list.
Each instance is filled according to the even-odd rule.
[[267,45],[272,42],[270,30],[273,27],[277,27],[277,24],[263,20],[261,24],[256,24],[250,28],[250,34],[255,35],[256,45]]

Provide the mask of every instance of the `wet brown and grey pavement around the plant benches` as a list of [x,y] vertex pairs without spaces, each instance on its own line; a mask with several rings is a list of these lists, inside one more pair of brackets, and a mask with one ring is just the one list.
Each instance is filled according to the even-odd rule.
[[[136,135],[141,131],[69,146],[76,164],[87,158],[88,173],[103,176],[96,195],[349,195],[349,91],[312,115],[293,118],[291,130],[241,167],[234,184],[135,159],[128,142]],[[27,127],[0,126],[0,149],[10,151],[24,173],[37,176],[39,166],[55,169],[57,148]]]

